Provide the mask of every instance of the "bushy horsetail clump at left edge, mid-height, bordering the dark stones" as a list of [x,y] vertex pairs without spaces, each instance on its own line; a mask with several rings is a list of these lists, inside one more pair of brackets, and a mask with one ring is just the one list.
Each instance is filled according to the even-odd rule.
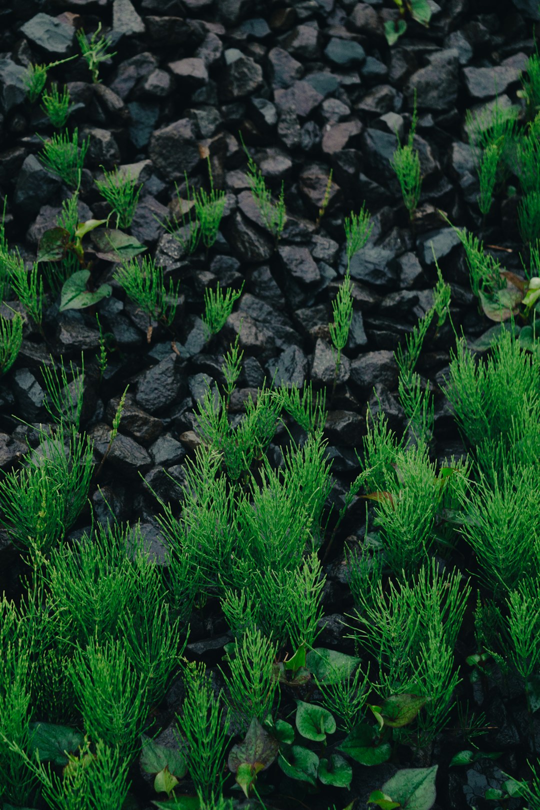
[[53,548],[87,501],[92,466],[91,443],[74,428],[42,433],[40,450],[2,476],[0,522],[13,542],[43,552]]

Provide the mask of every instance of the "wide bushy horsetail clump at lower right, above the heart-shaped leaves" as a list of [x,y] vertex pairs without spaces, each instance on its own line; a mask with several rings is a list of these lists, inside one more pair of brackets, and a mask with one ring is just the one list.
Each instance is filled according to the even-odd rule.
[[[375,656],[382,695],[415,693],[429,698],[416,721],[417,744],[427,745],[448,723],[453,691],[459,682],[453,671],[453,650],[461,628],[468,585],[461,589],[459,573],[437,571],[436,561],[422,566],[418,577],[405,574],[387,589],[382,582],[367,598],[358,593],[355,638]],[[414,731],[399,732],[400,737]]]

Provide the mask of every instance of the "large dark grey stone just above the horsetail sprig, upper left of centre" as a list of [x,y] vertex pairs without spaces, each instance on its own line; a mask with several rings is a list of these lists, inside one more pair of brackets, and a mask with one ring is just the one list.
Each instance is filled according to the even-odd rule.
[[181,118],[157,130],[150,139],[148,154],[155,168],[171,180],[180,180],[198,165],[201,156],[193,123]]

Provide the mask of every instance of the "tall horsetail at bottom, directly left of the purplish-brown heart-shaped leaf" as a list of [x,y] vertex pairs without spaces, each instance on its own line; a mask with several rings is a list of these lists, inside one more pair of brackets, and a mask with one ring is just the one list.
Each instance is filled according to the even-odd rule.
[[223,693],[215,695],[206,676],[206,664],[186,663],[185,699],[176,714],[179,741],[188,764],[189,776],[205,801],[223,792],[226,777],[225,750],[228,744],[228,712],[220,706]]

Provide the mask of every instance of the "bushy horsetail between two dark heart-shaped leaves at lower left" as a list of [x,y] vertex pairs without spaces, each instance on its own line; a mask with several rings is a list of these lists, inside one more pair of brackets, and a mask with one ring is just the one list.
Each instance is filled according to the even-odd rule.
[[131,667],[125,638],[75,647],[70,680],[91,740],[133,757],[146,727],[148,679]]

